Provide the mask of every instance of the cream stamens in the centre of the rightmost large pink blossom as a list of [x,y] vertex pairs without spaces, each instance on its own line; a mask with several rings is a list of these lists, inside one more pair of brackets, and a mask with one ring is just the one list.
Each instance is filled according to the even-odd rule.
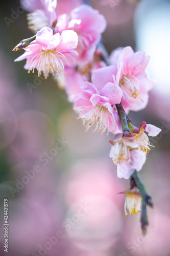
[[[134,76],[123,76],[119,81],[119,87],[122,88],[130,97],[136,99],[139,97],[139,84]],[[140,98],[142,101],[142,99]]]

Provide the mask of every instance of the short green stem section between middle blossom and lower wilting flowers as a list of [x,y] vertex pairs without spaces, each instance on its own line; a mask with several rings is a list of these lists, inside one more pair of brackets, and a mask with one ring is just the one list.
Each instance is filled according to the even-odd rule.
[[130,129],[129,129],[129,126],[128,126],[128,117],[127,117],[127,114],[125,112],[125,110],[123,109],[123,106],[122,104],[116,104],[116,108],[117,108],[117,112],[118,112],[118,115],[119,115],[119,118],[120,118],[120,122],[122,124],[122,131],[123,131],[123,135],[127,135],[127,134],[130,134]]

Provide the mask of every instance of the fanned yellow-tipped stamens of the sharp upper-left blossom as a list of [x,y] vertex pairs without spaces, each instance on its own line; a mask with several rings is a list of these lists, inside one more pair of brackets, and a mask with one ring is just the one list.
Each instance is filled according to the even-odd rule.
[[43,72],[45,78],[49,76],[49,73],[57,73],[57,75],[61,75],[64,72],[64,64],[63,61],[70,66],[70,63],[65,59],[65,56],[61,52],[57,52],[56,50],[42,50],[41,53],[36,54],[30,63],[32,63],[28,73],[32,71],[34,73],[35,68],[38,71],[38,77]]

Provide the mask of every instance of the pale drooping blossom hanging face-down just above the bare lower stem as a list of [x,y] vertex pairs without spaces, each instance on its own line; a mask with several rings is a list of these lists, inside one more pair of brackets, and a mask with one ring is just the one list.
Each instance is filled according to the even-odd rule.
[[134,173],[141,170],[146,160],[146,155],[138,150],[134,135],[123,137],[123,134],[116,134],[113,141],[109,141],[111,146],[110,158],[117,165],[117,177],[129,179]]

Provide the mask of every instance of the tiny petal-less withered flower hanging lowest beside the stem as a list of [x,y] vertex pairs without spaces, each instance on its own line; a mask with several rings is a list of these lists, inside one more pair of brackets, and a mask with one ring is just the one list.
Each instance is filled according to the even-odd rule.
[[[118,193],[118,195],[126,195],[125,198],[125,215],[128,212],[131,214],[137,214],[141,211],[141,195],[138,189],[125,190]],[[128,211],[128,212],[127,212]]]

